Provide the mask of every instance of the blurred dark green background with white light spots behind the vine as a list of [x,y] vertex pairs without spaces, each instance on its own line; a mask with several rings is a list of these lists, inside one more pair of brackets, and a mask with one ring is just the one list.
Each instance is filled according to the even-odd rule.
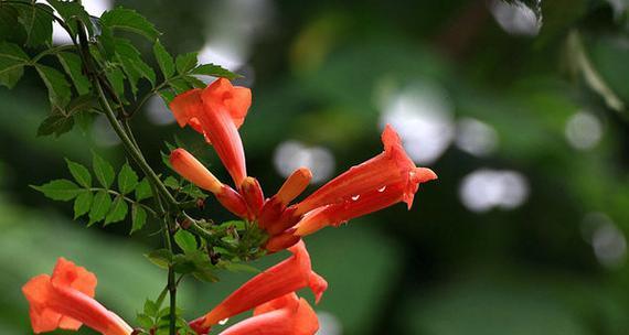
[[[313,190],[379,153],[385,123],[437,172],[412,210],[307,238],[330,283],[316,306],[321,335],[627,334],[626,0],[83,2],[94,15],[136,9],[173,53],[200,51],[245,76],[247,168],[269,194],[297,166],[312,169]],[[121,145],[100,119],[36,138],[49,106],[34,71],[0,89],[0,333],[31,332],[20,287],[58,256],[95,272],[99,301],[131,322],[164,283],[142,256],[159,246],[157,224],[132,237],[129,223],[87,229],[72,204],[29,187],[67,177],[63,158],[88,164],[92,148],[119,165]],[[158,170],[177,134],[228,180],[159,99],[134,128]],[[228,218],[213,201],[206,215]],[[250,275],[185,281],[185,315]]]

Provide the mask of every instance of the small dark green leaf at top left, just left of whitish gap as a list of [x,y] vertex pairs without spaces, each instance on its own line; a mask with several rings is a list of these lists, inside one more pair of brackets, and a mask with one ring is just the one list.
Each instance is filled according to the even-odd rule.
[[29,3],[30,6],[19,6],[20,17],[18,21],[26,31],[26,46],[40,46],[52,44],[52,8],[43,3]]

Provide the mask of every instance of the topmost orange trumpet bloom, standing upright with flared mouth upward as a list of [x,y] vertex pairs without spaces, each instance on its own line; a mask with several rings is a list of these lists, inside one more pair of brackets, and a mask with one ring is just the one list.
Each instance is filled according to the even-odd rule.
[[247,176],[245,152],[238,134],[252,104],[252,91],[218,78],[204,89],[195,88],[170,102],[179,126],[190,125],[214,145],[236,187]]

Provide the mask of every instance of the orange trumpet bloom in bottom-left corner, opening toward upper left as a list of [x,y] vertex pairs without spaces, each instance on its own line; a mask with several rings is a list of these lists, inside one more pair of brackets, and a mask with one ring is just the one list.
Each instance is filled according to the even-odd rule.
[[104,335],[129,335],[131,327],[96,300],[96,275],[60,258],[53,274],[40,274],[22,287],[35,334],[78,329],[83,324]]

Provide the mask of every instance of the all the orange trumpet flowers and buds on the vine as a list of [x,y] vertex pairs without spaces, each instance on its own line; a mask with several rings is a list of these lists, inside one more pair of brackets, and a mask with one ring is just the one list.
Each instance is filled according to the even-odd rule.
[[[429,169],[415,166],[395,130],[387,126],[382,153],[351,168],[303,201],[290,204],[310,183],[312,174],[307,168],[295,171],[267,198],[258,181],[247,176],[238,134],[250,102],[248,88],[220,78],[205,89],[175,97],[170,105],[181,127],[190,126],[213,145],[235,188],[218,181],[184,149],[172,151],[170,162],[181,176],[213,193],[226,209],[264,229],[269,237],[264,246],[268,251],[288,249],[292,256],[254,277],[190,326],[198,334],[207,334],[222,320],[254,310],[252,317],[221,334],[313,335],[319,328],[317,314],[296,292],[310,288],[318,302],[328,283],[312,271],[301,238],[399,202],[411,207],[419,183],[437,176]],[[52,277],[34,277],[22,289],[30,302],[33,331],[77,329],[85,324],[105,335],[131,334],[125,321],[93,299],[95,287],[92,272],[60,258]]]

